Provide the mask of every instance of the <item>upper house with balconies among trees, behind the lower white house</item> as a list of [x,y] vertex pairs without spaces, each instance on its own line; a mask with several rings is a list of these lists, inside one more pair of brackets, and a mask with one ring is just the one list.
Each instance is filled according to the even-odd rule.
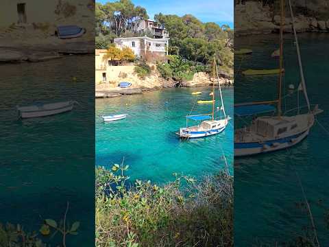
[[152,20],[143,20],[134,24],[133,30],[136,33],[146,32],[148,30],[153,34],[153,38],[169,38],[169,33],[164,26]]

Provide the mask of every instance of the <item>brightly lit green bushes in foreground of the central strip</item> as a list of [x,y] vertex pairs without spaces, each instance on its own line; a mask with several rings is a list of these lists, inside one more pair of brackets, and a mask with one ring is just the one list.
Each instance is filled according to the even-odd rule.
[[232,178],[174,174],[160,186],[96,168],[96,246],[233,246]]

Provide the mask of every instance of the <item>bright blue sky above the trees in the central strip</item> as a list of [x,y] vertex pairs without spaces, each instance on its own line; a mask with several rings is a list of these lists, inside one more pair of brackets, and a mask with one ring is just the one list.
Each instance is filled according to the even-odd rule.
[[[97,0],[100,3],[115,0]],[[233,0],[132,0],[147,10],[150,19],[154,14],[193,14],[202,22],[215,22],[219,25],[228,24],[233,28]]]

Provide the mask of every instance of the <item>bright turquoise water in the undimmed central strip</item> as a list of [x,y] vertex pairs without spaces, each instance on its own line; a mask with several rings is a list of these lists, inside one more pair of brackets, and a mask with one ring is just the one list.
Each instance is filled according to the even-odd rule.
[[[166,183],[173,173],[201,178],[226,169],[223,154],[232,169],[232,122],[221,134],[182,141],[175,134],[186,126],[186,118],[197,96],[208,99],[210,88],[164,89],[110,99],[96,100],[96,165],[112,167],[125,158],[131,180]],[[223,89],[228,115],[232,116],[233,90]],[[211,112],[211,104],[195,104],[192,114]],[[101,115],[127,113],[127,118],[104,123]],[[193,121],[191,121],[191,124]],[[223,154],[221,152],[223,149]]]

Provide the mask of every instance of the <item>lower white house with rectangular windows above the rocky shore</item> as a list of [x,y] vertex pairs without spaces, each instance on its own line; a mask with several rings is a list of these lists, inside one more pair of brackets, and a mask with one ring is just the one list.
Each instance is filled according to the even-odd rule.
[[129,47],[138,58],[164,60],[168,55],[169,38],[114,38],[114,44],[120,49]]

